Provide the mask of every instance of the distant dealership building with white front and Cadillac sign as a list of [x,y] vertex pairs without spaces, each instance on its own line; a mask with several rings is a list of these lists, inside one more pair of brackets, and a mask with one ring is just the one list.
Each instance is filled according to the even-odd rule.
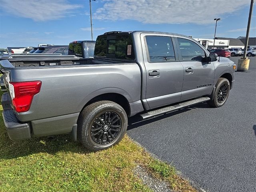
[[[225,37],[216,37],[215,44],[214,39],[202,39],[202,38],[194,38],[200,44],[202,44],[206,49],[215,48],[244,48],[245,38],[225,38]],[[213,46],[214,44],[214,46]],[[256,37],[250,37],[248,41],[247,48],[256,48]]]

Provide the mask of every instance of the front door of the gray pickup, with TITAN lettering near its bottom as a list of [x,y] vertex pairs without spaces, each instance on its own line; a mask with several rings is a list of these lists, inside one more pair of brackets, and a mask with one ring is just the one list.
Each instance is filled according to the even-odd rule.
[[176,36],[179,59],[184,67],[181,100],[209,95],[213,88],[215,68],[206,62],[209,53],[197,42]]

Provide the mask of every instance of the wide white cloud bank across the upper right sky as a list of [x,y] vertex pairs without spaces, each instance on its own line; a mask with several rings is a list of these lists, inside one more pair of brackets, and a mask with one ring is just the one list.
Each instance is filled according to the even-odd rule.
[[112,0],[94,13],[98,20],[136,20],[149,24],[212,23],[250,4],[250,0]]

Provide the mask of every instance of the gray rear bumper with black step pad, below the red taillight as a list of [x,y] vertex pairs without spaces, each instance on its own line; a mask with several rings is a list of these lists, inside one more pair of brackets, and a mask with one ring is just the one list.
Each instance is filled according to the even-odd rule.
[[31,131],[29,123],[19,122],[16,114],[11,108],[10,102],[10,97],[7,93],[4,93],[2,95],[2,106],[4,109],[2,115],[8,136],[13,141],[30,139]]

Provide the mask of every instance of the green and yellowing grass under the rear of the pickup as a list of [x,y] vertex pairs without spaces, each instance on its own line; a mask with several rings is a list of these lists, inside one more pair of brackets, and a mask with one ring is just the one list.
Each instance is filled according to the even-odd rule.
[[100,152],[85,151],[68,135],[13,142],[4,127],[2,105],[0,111],[0,191],[151,191],[133,174],[136,165],[170,182],[173,190],[196,191],[174,167],[152,158],[128,136]]

